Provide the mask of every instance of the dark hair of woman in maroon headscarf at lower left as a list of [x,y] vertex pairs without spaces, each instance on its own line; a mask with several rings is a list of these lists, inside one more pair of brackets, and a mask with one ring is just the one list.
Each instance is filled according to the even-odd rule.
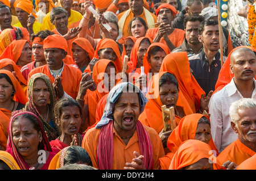
[[[25,118],[27,120],[30,120],[30,122],[33,124],[33,127],[34,129],[39,133],[41,132],[42,133],[42,139],[44,139],[43,137],[43,132],[44,131],[40,125],[40,121],[37,117],[35,117],[34,115],[31,115],[29,113],[24,113],[22,115],[19,115],[17,117],[15,117],[15,119],[13,120],[13,123],[20,119],[20,118]],[[38,150],[44,150],[44,140],[42,140],[41,142],[39,142],[39,145],[38,145]]]

